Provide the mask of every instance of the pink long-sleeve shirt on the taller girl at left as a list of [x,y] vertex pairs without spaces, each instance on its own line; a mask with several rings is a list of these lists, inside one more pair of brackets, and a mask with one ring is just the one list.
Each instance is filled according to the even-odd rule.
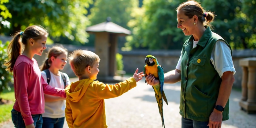
[[25,125],[34,123],[31,116],[44,113],[44,93],[66,97],[65,89],[49,86],[42,78],[37,61],[25,55],[18,56],[14,68],[15,103],[13,109],[21,112]]

